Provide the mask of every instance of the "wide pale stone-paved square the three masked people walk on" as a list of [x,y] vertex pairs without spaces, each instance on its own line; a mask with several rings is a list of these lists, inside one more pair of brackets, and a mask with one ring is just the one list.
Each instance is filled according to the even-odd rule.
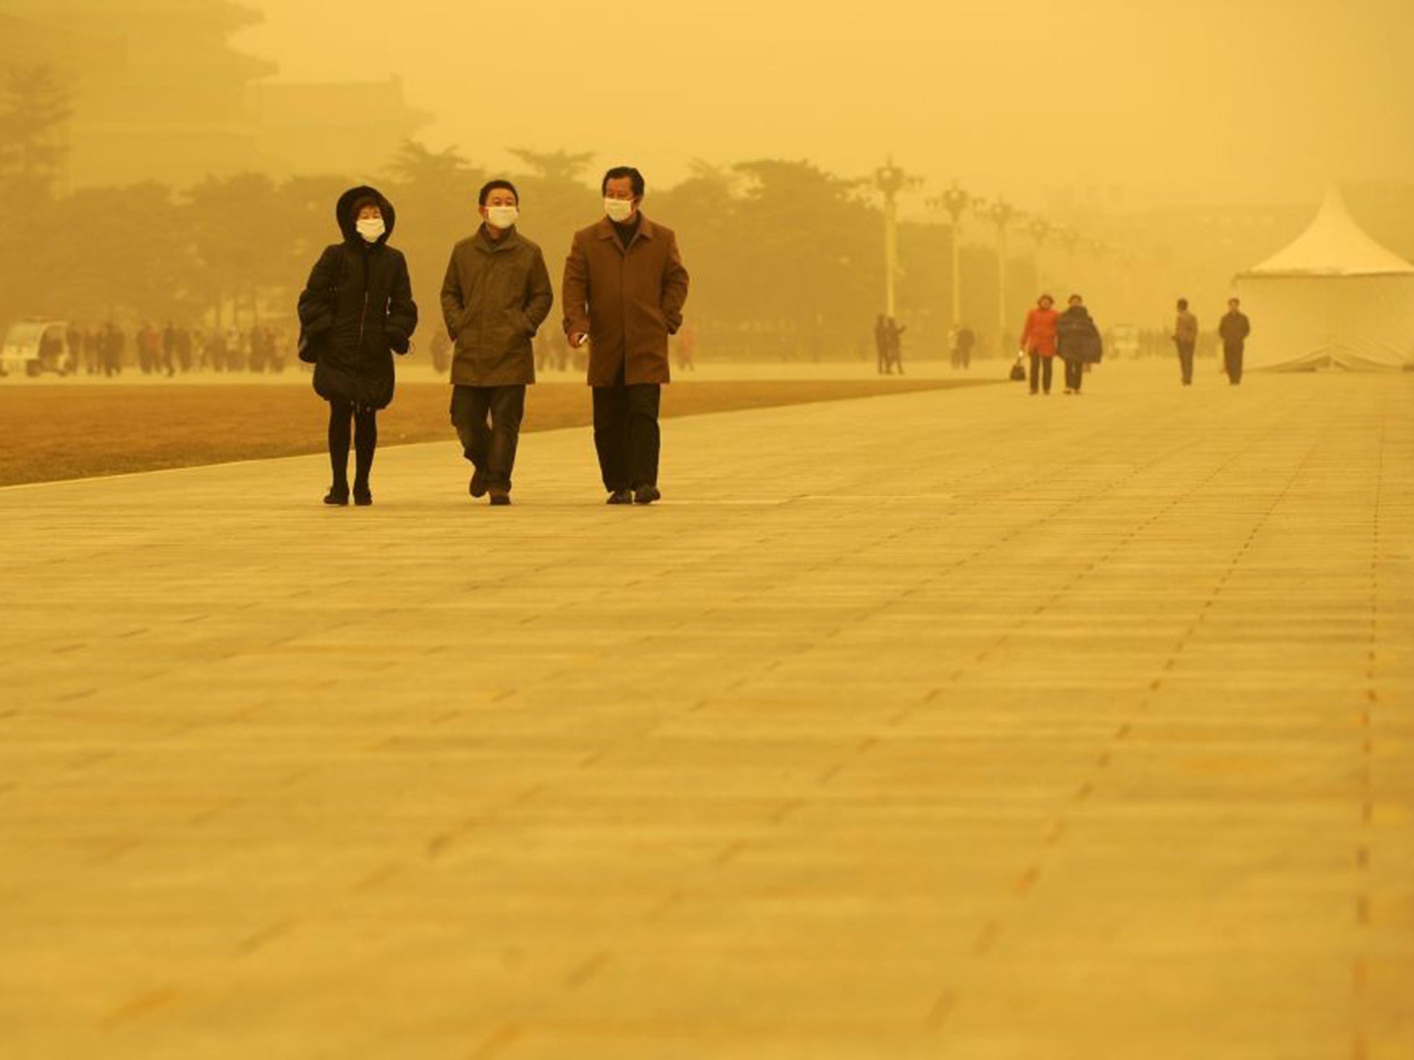
[[1172,375],[0,490],[0,1056],[1414,1056],[1414,379]]

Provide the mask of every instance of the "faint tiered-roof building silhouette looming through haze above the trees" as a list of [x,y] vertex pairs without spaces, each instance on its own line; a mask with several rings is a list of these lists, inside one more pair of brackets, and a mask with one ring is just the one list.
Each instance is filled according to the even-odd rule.
[[230,45],[262,18],[232,0],[6,7],[0,64],[49,65],[72,92],[69,187],[185,187],[243,171],[358,175],[386,165],[427,120],[406,105],[397,81],[271,81],[274,64]]

